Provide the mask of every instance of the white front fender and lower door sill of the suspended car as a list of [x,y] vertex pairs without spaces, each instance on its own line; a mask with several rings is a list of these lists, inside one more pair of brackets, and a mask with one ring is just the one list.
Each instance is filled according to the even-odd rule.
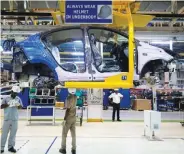
[[[138,72],[136,72],[136,69],[134,70],[134,80],[139,80],[140,79],[140,74],[142,72],[143,67],[149,63],[150,61],[154,60],[164,60],[164,61],[170,61],[173,59],[173,56],[165,52],[163,49],[159,47],[155,47],[152,45],[149,45],[144,42],[140,42],[141,46],[137,47],[138,50],[138,62],[137,62],[137,67],[138,67]],[[125,52],[127,52],[126,50]],[[125,53],[128,55],[127,53]],[[95,71],[95,74],[93,74],[93,80],[95,81],[102,81],[105,78],[109,76],[114,76],[120,74],[119,72],[105,72],[105,73],[100,73],[95,66],[92,66],[93,70]],[[58,76],[60,77],[60,81],[66,81],[66,80],[73,80],[73,81],[79,81],[79,80],[91,80],[91,75],[88,72],[85,73],[76,73],[73,75],[71,72],[65,72],[62,70],[61,67],[56,68],[56,72],[58,73]]]

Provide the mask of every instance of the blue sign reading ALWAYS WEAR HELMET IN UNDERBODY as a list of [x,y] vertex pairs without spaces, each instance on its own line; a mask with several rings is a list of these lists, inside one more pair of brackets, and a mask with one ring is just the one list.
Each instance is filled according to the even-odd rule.
[[112,1],[66,0],[65,23],[67,24],[111,24]]

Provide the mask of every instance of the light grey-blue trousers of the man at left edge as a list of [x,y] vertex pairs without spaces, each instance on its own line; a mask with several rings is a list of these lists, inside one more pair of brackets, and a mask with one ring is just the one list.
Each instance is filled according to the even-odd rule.
[[8,149],[15,146],[17,127],[18,127],[18,121],[12,121],[12,120],[4,121],[3,128],[2,128],[2,135],[1,135],[1,150],[4,150],[9,132],[10,132],[10,135],[8,139]]

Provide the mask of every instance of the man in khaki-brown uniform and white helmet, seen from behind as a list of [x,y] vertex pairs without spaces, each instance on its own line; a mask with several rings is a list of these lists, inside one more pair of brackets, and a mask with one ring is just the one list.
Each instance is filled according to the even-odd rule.
[[63,132],[62,132],[62,143],[60,153],[66,153],[66,138],[68,131],[70,130],[72,136],[72,154],[76,154],[76,132],[75,132],[75,124],[76,124],[76,89],[69,88],[69,95],[66,98],[66,112],[63,121]]

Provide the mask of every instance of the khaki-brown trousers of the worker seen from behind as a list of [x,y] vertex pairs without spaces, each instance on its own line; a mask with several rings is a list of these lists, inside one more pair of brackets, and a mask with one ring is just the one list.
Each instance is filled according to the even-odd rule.
[[66,138],[68,131],[70,130],[71,136],[72,136],[72,149],[76,150],[76,117],[72,119],[67,119],[65,125],[63,126],[63,132],[62,132],[62,143],[61,147],[62,149],[66,149]]

